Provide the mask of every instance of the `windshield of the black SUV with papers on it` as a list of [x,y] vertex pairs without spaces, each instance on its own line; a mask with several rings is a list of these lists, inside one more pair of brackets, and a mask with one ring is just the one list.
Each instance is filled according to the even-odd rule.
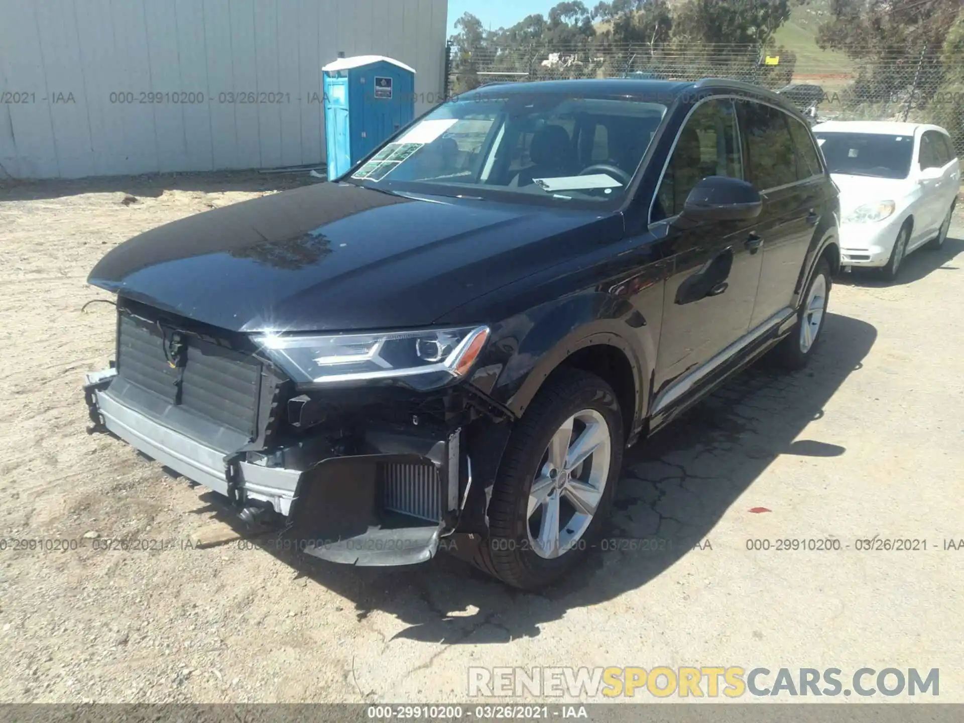
[[664,105],[627,98],[457,99],[343,180],[444,196],[621,201],[665,112]]

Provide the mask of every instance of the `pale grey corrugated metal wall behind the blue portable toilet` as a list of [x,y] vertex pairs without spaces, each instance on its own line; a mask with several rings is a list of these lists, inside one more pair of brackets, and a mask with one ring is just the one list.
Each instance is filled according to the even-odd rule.
[[[447,0],[0,0],[0,177],[319,163],[321,67],[338,51],[415,67],[417,116],[443,91],[446,9]],[[147,93],[186,102],[141,102]],[[231,103],[230,93],[281,102]]]

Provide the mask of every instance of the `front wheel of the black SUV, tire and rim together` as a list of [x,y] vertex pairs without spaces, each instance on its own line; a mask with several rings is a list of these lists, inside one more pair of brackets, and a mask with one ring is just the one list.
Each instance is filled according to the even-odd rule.
[[[573,423],[568,434],[562,431],[567,422]],[[576,442],[601,439],[603,431],[607,450],[599,444],[597,451],[572,470],[571,477],[565,469],[552,474],[549,444],[553,438],[571,438],[572,446],[565,455],[568,460]],[[622,468],[624,441],[619,402],[603,379],[566,367],[553,372],[509,438],[489,505],[489,539],[478,549],[475,564],[523,590],[538,590],[565,576],[599,536]],[[557,444],[554,448],[556,460],[561,459],[562,447]],[[545,502],[533,508],[530,494],[537,482],[533,500],[545,496]],[[584,496],[583,503],[598,499],[588,520],[577,517],[585,513],[571,501],[576,493]],[[552,529],[547,511],[553,507],[560,522],[555,556],[551,556],[551,545],[543,545],[551,539],[550,532],[541,534]],[[570,536],[570,530],[579,533]]]

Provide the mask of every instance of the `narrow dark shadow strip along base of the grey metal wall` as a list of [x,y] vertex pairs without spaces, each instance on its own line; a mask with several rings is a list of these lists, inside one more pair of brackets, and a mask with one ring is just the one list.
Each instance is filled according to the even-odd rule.
[[[324,173],[324,169],[321,169]],[[62,199],[81,194],[130,194],[139,199],[157,199],[165,191],[198,192],[203,194],[239,191],[258,193],[286,191],[299,186],[318,183],[321,179],[297,173],[265,174],[257,171],[237,171],[198,174],[111,175],[92,178],[54,180],[0,180],[0,199],[3,201],[38,201]]]

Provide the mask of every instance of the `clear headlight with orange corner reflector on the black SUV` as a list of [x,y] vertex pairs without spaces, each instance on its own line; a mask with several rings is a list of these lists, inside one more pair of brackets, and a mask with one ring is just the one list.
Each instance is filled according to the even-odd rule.
[[408,378],[417,388],[463,377],[489,338],[489,327],[339,335],[262,335],[255,341],[301,385]]

